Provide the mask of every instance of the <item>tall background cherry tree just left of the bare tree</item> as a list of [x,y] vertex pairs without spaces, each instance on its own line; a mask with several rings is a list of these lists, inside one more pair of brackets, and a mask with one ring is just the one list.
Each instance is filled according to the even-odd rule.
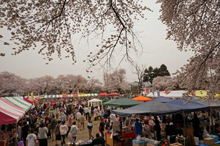
[[129,90],[130,86],[126,81],[125,69],[115,70],[113,73],[104,74],[104,86],[103,90],[118,91]]

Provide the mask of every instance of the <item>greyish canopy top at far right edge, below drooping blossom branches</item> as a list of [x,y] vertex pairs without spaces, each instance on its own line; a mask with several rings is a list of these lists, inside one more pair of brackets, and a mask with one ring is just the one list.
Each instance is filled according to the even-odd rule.
[[217,104],[217,102],[215,102],[215,100],[212,102],[206,102],[204,98],[199,98],[199,97],[195,97],[195,96],[192,96],[191,98],[192,98],[193,102],[209,106],[212,109],[220,108],[220,104]]

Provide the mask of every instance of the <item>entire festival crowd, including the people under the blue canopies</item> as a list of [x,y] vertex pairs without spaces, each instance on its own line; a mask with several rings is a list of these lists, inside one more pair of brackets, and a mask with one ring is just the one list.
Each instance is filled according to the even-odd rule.
[[[211,115],[211,116],[210,116]],[[100,118],[99,133],[94,137],[92,135],[93,121]],[[133,119],[133,121],[132,121]],[[186,124],[192,124],[194,129],[194,135],[198,136],[201,132],[200,122],[208,121],[214,125],[216,119],[219,119],[219,112],[196,112],[188,113],[186,115]],[[87,125],[85,125],[85,121]],[[50,101],[36,104],[18,123],[17,126],[13,124],[2,125],[1,130],[12,131],[10,139],[14,142],[16,137],[18,141],[23,141],[24,146],[35,146],[39,143],[39,146],[47,146],[48,139],[55,141],[56,145],[65,145],[66,137],[70,136],[73,141],[77,141],[77,132],[83,130],[85,127],[88,129],[88,139],[99,139],[97,141],[104,141],[104,130],[111,133],[111,129],[114,121],[120,122],[120,129],[123,126],[131,126],[134,128],[136,136],[145,136],[148,138],[154,138],[156,140],[161,139],[161,124],[167,125],[166,133],[169,134],[169,126],[175,127],[175,131],[182,135],[183,128],[183,115],[172,114],[164,116],[141,116],[134,115],[134,117],[118,117],[110,112],[110,109],[101,106],[87,106],[87,102],[76,102],[74,100],[69,101]],[[17,130],[15,129],[17,127]],[[178,131],[179,129],[179,131]],[[173,132],[173,129],[170,129]],[[213,131],[213,128],[209,130]],[[180,132],[180,133],[178,133]],[[98,143],[98,142],[97,142]]]

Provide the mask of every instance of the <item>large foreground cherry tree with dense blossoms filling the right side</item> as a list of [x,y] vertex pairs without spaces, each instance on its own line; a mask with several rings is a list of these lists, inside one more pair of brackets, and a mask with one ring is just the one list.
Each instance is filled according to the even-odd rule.
[[160,20],[167,25],[167,39],[174,40],[180,51],[195,56],[176,72],[177,84],[189,92],[209,91],[208,99],[220,91],[220,2],[195,0],[158,0]]

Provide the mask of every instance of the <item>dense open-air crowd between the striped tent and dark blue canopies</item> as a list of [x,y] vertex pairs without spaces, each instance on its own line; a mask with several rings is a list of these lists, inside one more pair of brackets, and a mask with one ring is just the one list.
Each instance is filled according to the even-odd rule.
[[[65,145],[66,137],[71,136],[75,142],[77,139],[77,132],[85,128],[85,120],[88,121],[86,128],[88,129],[88,139],[101,138],[104,141],[104,122],[103,118],[100,118],[101,137],[93,136],[93,121],[102,117],[101,108],[88,107],[87,103],[75,104],[74,101],[57,101],[36,104],[34,108],[17,123],[18,141],[23,141],[24,146],[35,146],[39,143],[39,146],[47,146],[48,139],[55,141],[56,145]],[[108,111],[109,112],[109,111]],[[109,126],[109,125],[108,125]],[[14,131],[14,124],[2,125],[2,131]],[[15,135],[11,138],[15,139]],[[96,143],[100,140],[95,140]],[[99,143],[99,142],[98,142]],[[104,143],[103,143],[104,144]]]

